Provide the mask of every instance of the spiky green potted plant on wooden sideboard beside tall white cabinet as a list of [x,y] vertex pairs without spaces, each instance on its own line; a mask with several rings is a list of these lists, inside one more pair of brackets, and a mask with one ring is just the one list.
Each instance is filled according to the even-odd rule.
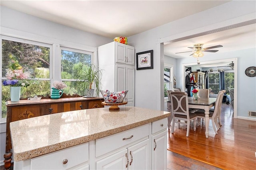
[[87,66],[81,66],[77,73],[77,82],[80,93],[84,92],[86,97],[93,97],[95,86],[95,94],[99,96],[101,89],[101,77],[102,70],[98,70],[98,67],[94,64]]

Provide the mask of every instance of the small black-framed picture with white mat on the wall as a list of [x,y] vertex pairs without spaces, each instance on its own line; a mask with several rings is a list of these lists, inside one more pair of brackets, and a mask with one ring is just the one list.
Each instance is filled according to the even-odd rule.
[[137,70],[153,69],[153,50],[136,53]]

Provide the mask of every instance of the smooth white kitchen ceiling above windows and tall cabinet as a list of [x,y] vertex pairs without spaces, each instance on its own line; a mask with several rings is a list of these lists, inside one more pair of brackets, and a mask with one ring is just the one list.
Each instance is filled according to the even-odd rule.
[[129,37],[226,2],[229,1],[0,0],[2,6],[109,38]]

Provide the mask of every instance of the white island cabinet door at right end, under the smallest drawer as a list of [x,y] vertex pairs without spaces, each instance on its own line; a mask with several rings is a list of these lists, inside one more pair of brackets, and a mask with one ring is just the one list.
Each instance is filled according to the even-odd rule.
[[163,131],[152,137],[152,169],[167,168],[167,132]]

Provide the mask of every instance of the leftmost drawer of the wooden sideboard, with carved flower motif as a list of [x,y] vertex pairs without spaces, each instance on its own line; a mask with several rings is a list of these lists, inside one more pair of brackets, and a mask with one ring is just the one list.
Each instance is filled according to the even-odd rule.
[[12,120],[11,121],[18,121],[22,119],[28,119],[31,117],[40,116],[40,106],[17,106],[12,107]]

